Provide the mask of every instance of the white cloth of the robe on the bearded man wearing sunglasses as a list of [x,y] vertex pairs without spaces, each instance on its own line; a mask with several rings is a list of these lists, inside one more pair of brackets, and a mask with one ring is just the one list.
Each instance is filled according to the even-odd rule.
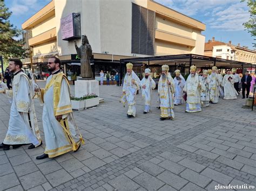
[[[50,82],[53,75],[48,77],[46,84]],[[55,118],[53,110],[53,86],[51,86],[46,93],[44,93],[44,108],[42,117],[46,144],[44,153],[49,154],[50,158],[73,150],[71,138],[67,135],[62,125],[60,125]],[[64,108],[66,105],[71,105],[70,91],[66,80],[62,80],[58,108]],[[64,119],[65,128],[70,132],[75,143],[79,145],[82,137],[79,137],[78,133],[76,132],[77,127],[73,119],[72,112],[63,115],[62,118]]]

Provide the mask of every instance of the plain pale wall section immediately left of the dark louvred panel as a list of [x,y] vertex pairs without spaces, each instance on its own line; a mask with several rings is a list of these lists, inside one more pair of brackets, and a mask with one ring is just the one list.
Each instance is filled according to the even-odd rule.
[[[141,3],[147,1],[140,1]],[[100,1],[99,53],[131,54],[132,3],[127,0]],[[94,51],[93,51],[94,52]]]

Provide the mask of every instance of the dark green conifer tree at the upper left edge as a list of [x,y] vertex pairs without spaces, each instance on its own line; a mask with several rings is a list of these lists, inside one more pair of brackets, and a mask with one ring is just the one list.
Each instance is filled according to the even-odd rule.
[[24,58],[28,55],[27,50],[23,48],[24,41],[17,40],[22,31],[9,21],[11,13],[6,8],[4,0],[0,0],[0,55],[3,55],[5,61],[10,57]]

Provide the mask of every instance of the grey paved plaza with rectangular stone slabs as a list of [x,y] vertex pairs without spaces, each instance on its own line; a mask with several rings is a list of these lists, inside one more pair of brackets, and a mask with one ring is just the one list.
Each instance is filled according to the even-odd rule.
[[[45,82],[39,82],[44,86]],[[100,86],[104,103],[74,111],[85,144],[76,153],[36,160],[45,144],[0,151],[1,190],[214,190],[218,185],[256,186],[256,111],[222,100],[203,111],[174,107],[174,121],[160,121],[157,91],[152,112],[127,118],[122,87]],[[74,87],[71,86],[73,93]],[[42,109],[35,101],[44,139]],[[10,103],[0,95],[0,141],[8,128]],[[230,189],[232,190],[232,189]],[[252,189],[253,190],[253,189]],[[254,189],[256,190],[256,188]]]

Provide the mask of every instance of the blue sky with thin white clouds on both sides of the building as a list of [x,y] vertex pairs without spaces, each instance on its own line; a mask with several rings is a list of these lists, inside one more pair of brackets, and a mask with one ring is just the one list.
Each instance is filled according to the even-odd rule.
[[[5,0],[6,6],[12,11],[10,22],[21,29],[22,23],[29,19],[51,0]],[[71,0],[68,0],[71,1]],[[100,0],[110,1],[110,0]],[[233,45],[248,46],[251,49],[255,41],[242,23],[250,18],[246,2],[241,0],[155,0],[173,10],[206,24],[202,32],[205,41],[215,40]],[[254,37],[255,38],[255,37]]]

